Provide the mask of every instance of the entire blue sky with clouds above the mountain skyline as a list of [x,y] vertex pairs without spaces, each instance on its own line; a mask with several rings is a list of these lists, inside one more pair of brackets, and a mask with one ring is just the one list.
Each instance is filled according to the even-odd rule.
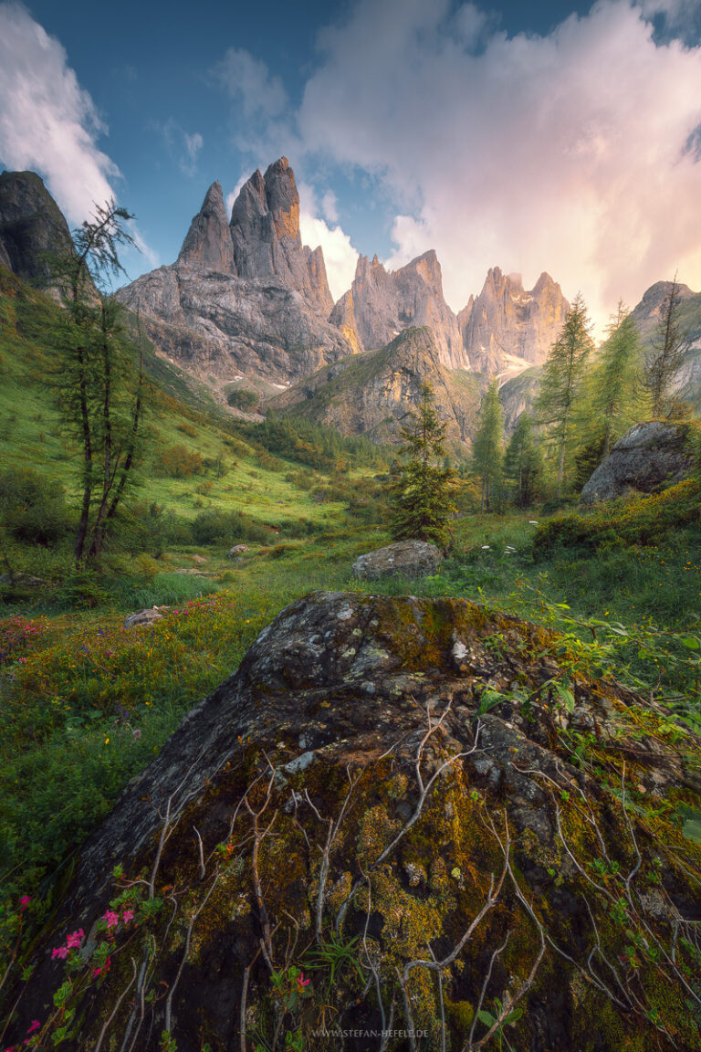
[[434,248],[456,311],[547,270],[602,331],[701,289],[701,0],[0,0],[0,165],[133,213],[130,279],[283,155],[334,298]]

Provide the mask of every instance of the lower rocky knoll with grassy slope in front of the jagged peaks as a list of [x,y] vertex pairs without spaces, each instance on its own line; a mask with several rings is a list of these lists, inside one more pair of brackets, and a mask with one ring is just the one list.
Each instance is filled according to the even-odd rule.
[[469,372],[444,366],[429,328],[405,329],[387,347],[323,366],[269,404],[275,411],[305,416],[345,434],[397,443],[425,383],[431,384],[448,424],[449,442],[469,443],[479,401],[477,382]]

